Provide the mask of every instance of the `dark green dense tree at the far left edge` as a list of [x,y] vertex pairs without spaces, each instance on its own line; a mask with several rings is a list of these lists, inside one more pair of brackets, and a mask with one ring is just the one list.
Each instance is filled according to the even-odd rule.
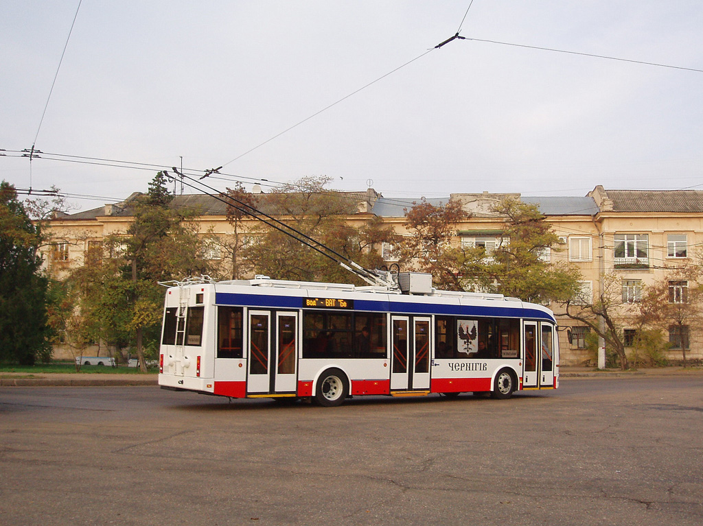
[[37,357],[51,357],[41,240],[41,228],[32,223],[15,188],[0,183],[0,362],[33,364]]

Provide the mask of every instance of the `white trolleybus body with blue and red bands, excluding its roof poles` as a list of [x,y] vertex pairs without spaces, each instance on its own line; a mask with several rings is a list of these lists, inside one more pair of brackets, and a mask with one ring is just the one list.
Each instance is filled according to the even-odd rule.
[[[257,277],[167,290],[162,388],[226,397],[447,395],[555,389],[553,313],[498,294]],[[401,275],[401,278],[404,275]],[[409,284],[409,285],[408,285]]]

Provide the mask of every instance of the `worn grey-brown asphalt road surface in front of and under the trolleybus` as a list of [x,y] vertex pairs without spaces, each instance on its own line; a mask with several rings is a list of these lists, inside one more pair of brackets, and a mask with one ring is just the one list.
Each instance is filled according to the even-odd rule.
[[703,524],[703,375],[290,407],[0,388],[0,525]]

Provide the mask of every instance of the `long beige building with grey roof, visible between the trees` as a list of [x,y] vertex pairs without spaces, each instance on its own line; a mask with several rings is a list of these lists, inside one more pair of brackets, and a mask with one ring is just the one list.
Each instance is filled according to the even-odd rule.
[[[108,236],[124,235],[129,228],[130,201],[106,204],[74,214],[58,213],[49,222],[51,244],[44,247],[44,262],[51,275],[61,279],[71,268],[82,265],[91,247],[101,246]],[[382,218],[399,234],[408,235],[404,224],[405,211],[412,199],[384,198],[373,189],[347,192],[350,223],[364,223],[373,216]],[[605,190],[602,186],[585,197],[527,197],[520,194],[452,194],[441,199],[427,199],[431,204],[458,200],[470,218],[456,226],[453,243],[457,246],[485,246],[486,251],[501,242],[504,220],[491,211],[505,197],[515,197],[535,204],[560,237],[560,249],[543,254],[550,262],[567,261],[583,276],[583,294],[591,298],[605,286],[602,277],[616,280],[621,294],[619,324],[626,343],[636,329],[633,316],[642,291],[647,285],[671,278],[671,301],[685,301],[687,287],[677,272],[698,264],[697,247],[703,243],[703,192],[694,190]],[[265,195],[259,195],[259,206],[266,206]],[[226,205],[207,195],[176,196],[175,206],[196,211],[193,223],[200,235],[218,239],[231,235],[226,218]],[[266,210],[275,214],[275,210]],[[245,218],[243,232],[252,231],[256,220]],[[392,247],[379,246],[389,263]],[[228,256],[217,242],[207,244],[207,257],[222,266],[227,275]],[[595,364],[596,355],[588,348],[589,330],[564,315],[560,305],[550,305],[560,321],[562,364]],[[568,329],[568,330],[567,330]],[[673,329],[672,329],[673,330]],[[686,350],[691,360],[703,359],[703,339],[698,327],[676,329],[669,334],[669,360],[681,360]],[[628,348],[632,352],[631,348]],[[55,353],[56,357],[67,354]],[[94,352],[88,350],[87,352]]]

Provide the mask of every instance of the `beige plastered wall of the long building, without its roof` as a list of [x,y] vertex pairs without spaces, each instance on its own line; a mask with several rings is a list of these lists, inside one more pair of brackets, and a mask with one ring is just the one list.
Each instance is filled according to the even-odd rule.
[[[600,276],[603,273],[614,272],[619,280],[641,280],[643,285],[652,284],[657,280],[666,277],[671,268],[682,264],[696,263],[695,247],[703,244],[703,210],[689,213],[633,213],[616,212],[608,210],[612,208],[607,199],[600,195],[598,190],[594,190],[594,198],[601,205],[602,211],[591,216],[588,214],[578,215],[578,213],[564,213],[562,215],[550,215],[546,221],[550,223],[555,234],[562,237],[564,244],[561,250],[550,251],[550,261],[568,262],[579,268],[583,275],[583,282],[590,284],[594,296],[598,294],[602,282]],[[461,199],[473,216],[467,221],[456,225],[456,230],[461,231],[491,231],[501,230],[503,219],[491,214],[490,204],[501,196],[476,194],[463,195]],[[372,217],[364,208],[359,214],[349,216],[347,219],[352,223],[363,223]],[[110,210],[105,207],[105,213],[96,214],[93,218],[75,219],[71,216],[57,218],[51,221],[49,229],[53,237],[53,243],[67,243],[67,258],[56,257],[56,251],[51,246],[46,246],[44,260],[46,268],[52,275],[61,279],[67,275],[71,268],[82,265],[86,250],[91,242],[100,242],[109,235],[119,235],[127,232],[131,218],[124,216],[111,216]],[[385,223],[392,225],[394,230],[401,235],[409,235],[404,224],[404,217],[385,217]],[[230,235],[231,225],[226,221],[225,216],[203,215],[196,220],[198,230],[201,235]],[[243,230],[254,230],[257,225],[255,220],[245,218],[243,220]],[[648,267],[647,268],[616,268],[614,258],[614,238],[617,234],[647,234],[648,247]],[[686,258],[670,258],[667,256],[667,235],[685,234],[688,243],[688,255]],[[453,239],[453,243],[459,246],[460,236]],[[588,249],[584,249],[587,246]],[[221,268],[226,275],[228,265],[231,265],[224,257],[221,257]],[[579,348],[576,343],[569,343],[567,339],[567,329],[578,327],[578,323],[563,315],[559,305],[550,305],[557,315],[560,323],[559,340],[562,356],[562,364],[582,364],[595,361],[592,351]],[[624,328],[632,327],[633,308],[630,312],[624,309],[621,317],[621,324]],[[66,353],[64,353],[66,354]],[[681,350],[670,350],[671,360],[681,360]],[[691,359],[703,359],[703,334],[697,327],[691,327],[690,350],[688,357]]]

